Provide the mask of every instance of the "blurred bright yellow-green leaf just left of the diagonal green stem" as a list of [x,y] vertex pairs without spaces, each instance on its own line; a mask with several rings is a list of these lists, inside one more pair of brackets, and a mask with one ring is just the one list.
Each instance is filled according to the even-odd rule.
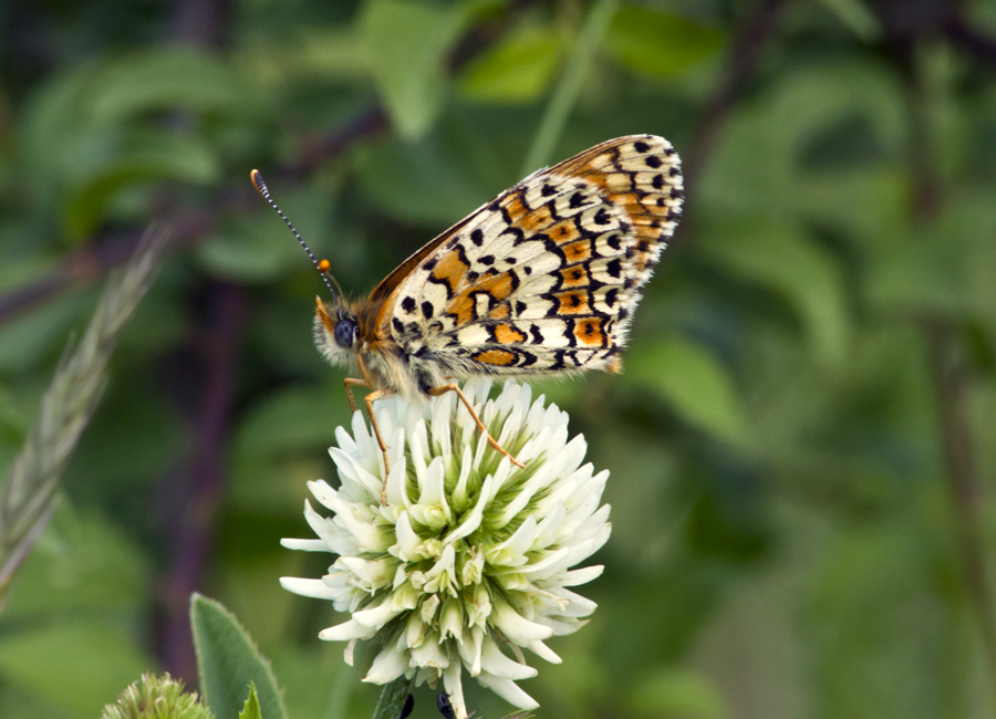
[[525,27],[486,49],[460,77],[460,92],[488,103],[528,103],[549,86],[563,54],[550,27]]

